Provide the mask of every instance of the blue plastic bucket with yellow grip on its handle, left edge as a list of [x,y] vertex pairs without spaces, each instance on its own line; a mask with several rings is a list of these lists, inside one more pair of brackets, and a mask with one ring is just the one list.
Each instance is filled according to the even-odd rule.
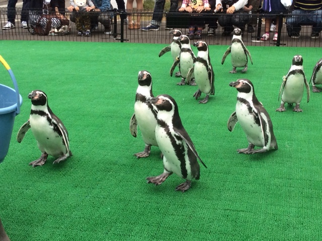
[[12,131],[14,129],[15,117],[20,113],[22,97],[14,73],[5,59],[0,55],[0,61],[8,70],[14,83],[15,89],[0,84],[0,163],[5,159],[8,150]]

